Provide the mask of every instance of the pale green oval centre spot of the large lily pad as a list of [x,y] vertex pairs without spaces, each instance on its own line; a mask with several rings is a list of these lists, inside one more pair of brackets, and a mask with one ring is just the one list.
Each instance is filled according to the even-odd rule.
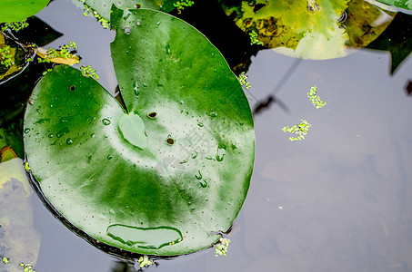
[[146,148],[145,123],[139,115],[123,115],[119,120],[119,129],[126,141],[142,150]]

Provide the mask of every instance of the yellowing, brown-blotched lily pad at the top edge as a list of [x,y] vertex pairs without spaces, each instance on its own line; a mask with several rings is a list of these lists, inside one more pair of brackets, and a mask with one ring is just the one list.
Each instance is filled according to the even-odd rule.
[[239,28],[266,48],[305,59],[337,58],[347,55],[349,47],[365,47],[393,19],[392,13],[363,0],[220,3]]

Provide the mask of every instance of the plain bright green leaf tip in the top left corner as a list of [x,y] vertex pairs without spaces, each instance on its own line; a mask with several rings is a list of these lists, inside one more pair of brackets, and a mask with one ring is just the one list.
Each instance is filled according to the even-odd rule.
[[0,24],[23,21],[40,12],[50,0],[2,0],[0,1]]

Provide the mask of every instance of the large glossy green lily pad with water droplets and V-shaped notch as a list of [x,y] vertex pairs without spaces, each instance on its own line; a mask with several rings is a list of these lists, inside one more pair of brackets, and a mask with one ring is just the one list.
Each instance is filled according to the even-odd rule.
[[208,248],[242,207],[252,114],[222,54],[162,12],[113,7],[122,108],[59,65],[25,112],[25,151],[45,197],[92,238],[141,254]]

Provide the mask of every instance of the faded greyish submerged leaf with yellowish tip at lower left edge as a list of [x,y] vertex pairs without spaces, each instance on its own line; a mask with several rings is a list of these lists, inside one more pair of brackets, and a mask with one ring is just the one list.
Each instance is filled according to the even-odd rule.
[[[2,156],[3,155],[3,156]],[[7,161],[5,161],[7,160]],[[0,150],[0,256],[10,263],[0,270],[20,272],[21,262],[35,266],[40,249],[40,234],[34,226],[32,188],[23,161],[10,149]]]

